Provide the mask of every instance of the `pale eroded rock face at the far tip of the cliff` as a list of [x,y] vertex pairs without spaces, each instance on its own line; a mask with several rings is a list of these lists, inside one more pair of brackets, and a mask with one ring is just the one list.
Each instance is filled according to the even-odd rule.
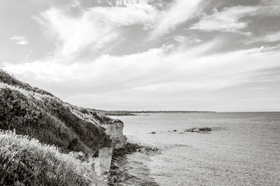
[[105,133],[109,135],[113,141],[114,148],[122,148],[123,145],[125,145],[127,138],[123,135],[123,122],[102,124],[102,127],[106,129]]

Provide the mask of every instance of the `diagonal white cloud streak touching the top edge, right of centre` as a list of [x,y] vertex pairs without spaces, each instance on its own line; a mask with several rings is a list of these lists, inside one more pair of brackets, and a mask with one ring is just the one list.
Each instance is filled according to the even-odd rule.
[[176,26],[190,20],[197,13],[198,6],[202,0],[176,0],[169,6],[168,10],[162,12],[155,28],[151,33],[151,38],[158,38],[175,29]]

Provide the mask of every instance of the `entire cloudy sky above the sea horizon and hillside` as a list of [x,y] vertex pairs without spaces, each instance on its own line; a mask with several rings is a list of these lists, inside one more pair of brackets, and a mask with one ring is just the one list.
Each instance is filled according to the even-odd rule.
[[0,0],[0,68],[77,106],[280,111],[279,0]]

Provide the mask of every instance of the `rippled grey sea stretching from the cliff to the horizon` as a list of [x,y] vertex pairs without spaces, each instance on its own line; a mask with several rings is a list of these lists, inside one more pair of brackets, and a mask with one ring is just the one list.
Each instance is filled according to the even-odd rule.
[[[280,113],[115,117],[129,141],[159,148],[127,155],[122,185],[280,185]],[[193,127],[213,130],[184,132]]]

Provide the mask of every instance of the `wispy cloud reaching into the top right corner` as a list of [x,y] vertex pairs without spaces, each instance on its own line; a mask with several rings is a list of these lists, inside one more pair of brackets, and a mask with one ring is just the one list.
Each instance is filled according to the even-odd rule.
[[225,7],[223,10],[218,11],[214,8],[211,15],[204,14],[200,21],[193,24],[190,29],[199,29],[203,31],[224,31],[239,34],[245,33],[243,30],[248,27],[251,22],[249,17],[253,16],[280,16],[279,3],[260,3],[259,6],[234,6]]

